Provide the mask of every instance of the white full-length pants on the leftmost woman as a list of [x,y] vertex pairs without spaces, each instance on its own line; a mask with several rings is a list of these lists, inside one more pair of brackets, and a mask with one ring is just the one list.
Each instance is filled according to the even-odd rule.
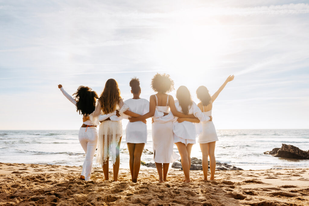
[[95,149],[98,143],[97,128],[81,127],[79,129],[78,139],[86,153],[81,175],[85,176],[86,181],[89,181],[91,177],[93,156],[95,155]]

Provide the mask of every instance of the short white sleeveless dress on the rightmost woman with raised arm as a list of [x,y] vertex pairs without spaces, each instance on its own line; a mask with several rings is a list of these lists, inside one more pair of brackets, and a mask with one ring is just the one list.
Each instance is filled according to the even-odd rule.
[[[211,110],[209,111],[204,111],[204,106],[203,106],[203,113],[207,116],[211,116]],[[209,143],[209,142],[214,142],[218,141],[218,136],[216,129],[214,128],[214,123],[213,121],[203,121],[202,123],[202,133],[198,136],[197,142],[200,144],[204,143]]]

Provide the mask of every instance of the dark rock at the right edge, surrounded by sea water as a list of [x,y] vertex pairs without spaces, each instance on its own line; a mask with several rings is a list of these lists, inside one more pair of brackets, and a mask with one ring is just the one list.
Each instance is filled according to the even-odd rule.
[[272,151],[264,152],[274,157],[291,158],[291,159],[309,159],[309,151],[304,151],[293,145],[282,144],[281,148],[274,148]]

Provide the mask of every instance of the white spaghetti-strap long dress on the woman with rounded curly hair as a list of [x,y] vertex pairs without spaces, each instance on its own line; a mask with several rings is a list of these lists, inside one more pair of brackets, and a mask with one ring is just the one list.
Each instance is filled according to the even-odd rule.
[[[169,112],[168,96],[166,106],[158,106],[158,98],[156,110],[161,112]],[[152,123],[152,142],[154,161],[157,163],[171,163],[180,158],[178,154],[173,151],[174,148],[174,135],[173,135],[173,122],[154,122]]]

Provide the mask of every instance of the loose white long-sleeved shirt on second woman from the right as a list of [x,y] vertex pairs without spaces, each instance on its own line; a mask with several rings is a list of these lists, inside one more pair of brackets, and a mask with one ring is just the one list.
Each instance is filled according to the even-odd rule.
[[[175,106],[177,111],[182,112],[182,109],[179,105],[179,100],[175,100]],[[188,107],[189,113],[193,114],[200,121],[209,121],[210,117],[205,115],[200,108],[198,108],[197,104],[192,101],[192,105]],[[172,112],[170,112],[167,116],[163,116],[161,118],[156,119],[158,122],[166,122],[167,120],[173,120],[173,132],[176,136],[181,137],[183,139],[191,139],[194,140],[197,135],[200,133],[196,132],[195,124],[193,122],[184,121],[182,123],[177,122],[178,117],[173,116]]]

